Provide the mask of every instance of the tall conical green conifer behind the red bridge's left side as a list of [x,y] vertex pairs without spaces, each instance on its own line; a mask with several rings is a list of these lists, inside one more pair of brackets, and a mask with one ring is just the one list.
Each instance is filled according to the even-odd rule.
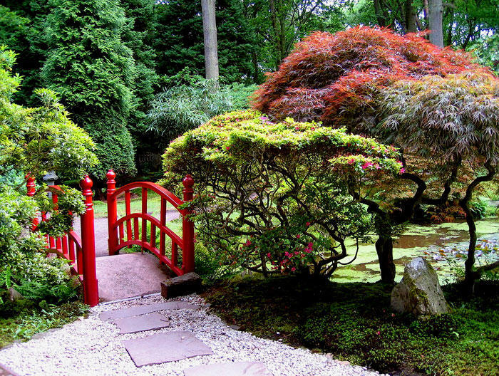
[[122,41],[127,19],[117,0],[53,0],[46,22],[48,57],[44,83],[61,95],[64,105],[97,142],[101,164],[135,174],[135,150],[128,131],[137,108],[133,52]]

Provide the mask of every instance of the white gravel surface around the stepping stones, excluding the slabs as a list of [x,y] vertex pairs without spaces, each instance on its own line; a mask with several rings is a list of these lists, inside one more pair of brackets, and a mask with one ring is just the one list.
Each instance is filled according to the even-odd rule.
[[[180,298],[203,305],[195,294]],[[165,310],[172,327],[135,334],[118,334],[112,323],[104,323],[98,313],[104,310],[148,305],[165,301],[149,296],[130,301],[98,305],[88,318],[81,318],[59,330],[15,343],[0,350],[0,363],[11,367],[19,375],[35,376],[91,376],[91,375],[162,375],[182,376],[188,367],[230,361],[264,362],[274,376],[379,376],[365,367],[340,364],[326,355],[292,348],[273,340],[264,340],[230,328],[213,313],[200,310]],[[215,355],[193,357],[178,362],[135,367],[121,341],[141,338],[173,330],[190,330],[212,348]],[[230,376],[230,375],[220,375]]]

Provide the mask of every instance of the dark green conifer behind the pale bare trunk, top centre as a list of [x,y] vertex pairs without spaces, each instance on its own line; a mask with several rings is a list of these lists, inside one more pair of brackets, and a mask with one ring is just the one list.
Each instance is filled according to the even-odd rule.
[[[157,4],[155,51],[158,73],[175,75],[188,67],[205,75],[201,1],[165,1]],[[237,0],[217,2],[217,38],[220,76],[228,82],[250,80],[251,29]]]

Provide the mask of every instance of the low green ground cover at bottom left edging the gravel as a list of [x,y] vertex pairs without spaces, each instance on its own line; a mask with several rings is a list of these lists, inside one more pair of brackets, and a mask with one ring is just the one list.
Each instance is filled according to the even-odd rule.
[[[32,305],[32,304],[31,304]],[[14,340],[29,340],[36,333],[61,328],[86,315],[88,305],[73,302],[62,305],[26,306],[17,309],[10,317],[0,316],[0,348]]]

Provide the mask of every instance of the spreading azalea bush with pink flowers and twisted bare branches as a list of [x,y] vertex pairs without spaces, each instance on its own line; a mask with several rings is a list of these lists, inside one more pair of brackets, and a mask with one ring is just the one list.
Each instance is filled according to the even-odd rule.
[[330,276],[356,256],[347,239],[372,229],[349,187],[401,174],[397,158],[395,148],[342,129],[237,111],[174,140],[164,184],[192,174],[198,240],[233,265]]

